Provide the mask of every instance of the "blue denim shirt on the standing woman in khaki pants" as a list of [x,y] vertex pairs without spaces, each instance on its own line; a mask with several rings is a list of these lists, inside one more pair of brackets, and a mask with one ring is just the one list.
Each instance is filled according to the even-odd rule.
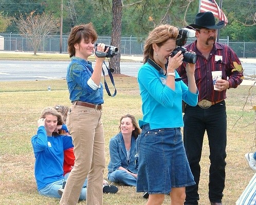
[[78,57],[71,57],[67,68],[67,86],[71,102],[82,101],[92,104],[103,104],[103,86],[94,90],[87,82],[92,76],[92,63]]

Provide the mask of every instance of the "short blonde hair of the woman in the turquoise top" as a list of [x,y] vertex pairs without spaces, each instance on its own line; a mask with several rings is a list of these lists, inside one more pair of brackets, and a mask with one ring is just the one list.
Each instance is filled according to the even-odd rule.
[[152,44],[156,44],[158,47],[161,47],[164,43],[166,43],[169,39],[176,40],[178,36],[178,28],[165,24],[160,25],[154,28],[145,40],[144,43],[144,51],[143,51],[143,63],[147,63],[148,59],[153,59],[153,46]]

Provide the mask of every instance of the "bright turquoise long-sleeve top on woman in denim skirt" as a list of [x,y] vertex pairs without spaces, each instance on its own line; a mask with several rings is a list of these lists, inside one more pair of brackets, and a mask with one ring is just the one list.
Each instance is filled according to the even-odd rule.
[[[191,106],[197,105],[198,91],[193,94],[183,81],[175,81],[175,90],[172,90],[166,86],[166,78],[149,63],[140,67],[138,83],[143,113],[140,127],[147,123],[151,129],[182,127],[182,100]],[[175,78],[179,78],[176,71]]]

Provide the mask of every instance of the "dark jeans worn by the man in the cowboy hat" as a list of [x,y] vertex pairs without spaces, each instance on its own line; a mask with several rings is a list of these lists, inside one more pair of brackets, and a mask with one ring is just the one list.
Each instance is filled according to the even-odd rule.
[[196,182],[186,188],[185,204],[198,204],[198,183],[205,131],[210,147],[209,199],[221,202],[225,187],[227,114],[226,103],[222,101],[209,108],[187,105],[184,115],[184,145],[190,169]]

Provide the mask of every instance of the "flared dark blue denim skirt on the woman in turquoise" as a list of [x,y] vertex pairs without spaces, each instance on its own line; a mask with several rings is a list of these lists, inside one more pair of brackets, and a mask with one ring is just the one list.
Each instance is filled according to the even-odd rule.
[[169,194],[172,188],[194,185],[179,128],[150,129],[136,140],[139,155],[137,192]]

